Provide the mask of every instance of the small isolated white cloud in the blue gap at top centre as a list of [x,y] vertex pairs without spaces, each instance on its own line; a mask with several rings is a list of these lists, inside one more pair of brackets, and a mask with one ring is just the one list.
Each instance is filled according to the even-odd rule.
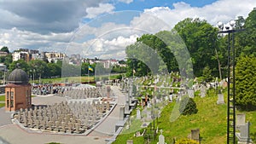
[[110,3],[99,3],[98,7],[90,7],[86,9],[86,18],[92,19],[100,14],[110,13],[114,9],[113,5]]

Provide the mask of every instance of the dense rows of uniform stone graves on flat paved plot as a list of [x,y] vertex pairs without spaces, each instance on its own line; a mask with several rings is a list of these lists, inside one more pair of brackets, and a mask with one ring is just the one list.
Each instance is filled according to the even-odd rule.
[[64,96],[67,101],[51,106],[20,108],[14,118],[31,130],[87,135],[114,107],[114,101],[103,101],[108,92],[102,95],[100,91],[91,87],[62,87],[56,95]]

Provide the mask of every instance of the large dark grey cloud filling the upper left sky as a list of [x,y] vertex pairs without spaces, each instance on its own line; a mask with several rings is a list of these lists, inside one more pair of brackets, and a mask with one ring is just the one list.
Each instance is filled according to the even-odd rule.
[[0,27],[39,33],[72,32],[86,15],[85,8],[102,1],[0,1]]

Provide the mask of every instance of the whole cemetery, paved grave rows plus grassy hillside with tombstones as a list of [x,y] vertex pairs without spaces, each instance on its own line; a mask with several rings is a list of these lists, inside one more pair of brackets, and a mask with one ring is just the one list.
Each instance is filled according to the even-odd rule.
[[[178,78],[176,73],[171,73],[164,76],[122,78],[114,83],[108,80],[96,86],[41,85],[32,88],[34,95],[55,95],[65,101],[20,108],[14,112],[12,121],[29,133],[90,135],[100,131],[108,135],[105,139],[108,143],[211,143],[214,141],[212,136],[217,135],[209,135],[211,130],[225,132],[225,123],[218,122],[218,118],[225,118],[226,91],[218,90],[211,84],[195,83],[191,88],[185,84],[188,84],[186,80]],[[176,122],[172,122],[172,119],[176,118],[172,116],[176,104],[181,105],[186,98],[196,102],[198,112],[185,116],[182,114],[184,109],[177,109],[180,116]],[[98,130],[114,108],[118,109],[118,119],[111,125],[114,132]],[[212,109],[212,112],[209,112],[209,109]],[[249,114],[248,118],[244,113],[236,115],[236,137],[241,144],[253,143],[250,131],[254,126],[251,123],[252,115]],[[210,123],[211,126],[202,121]],[[130,139],[122,140],[125,135],[131,135]]]

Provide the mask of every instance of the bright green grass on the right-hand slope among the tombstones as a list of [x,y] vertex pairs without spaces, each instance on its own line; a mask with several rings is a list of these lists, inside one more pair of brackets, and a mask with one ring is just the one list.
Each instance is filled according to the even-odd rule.
[[[224,94],[226,97],[226,93]],[[190,134],[192,129],[200,129],[202,137],[202,143],[226,143],[226,108],[227,105],[217,105],[218,96],[212,89],[206,97],[201,98],[195,96],[195,102],[198,108],[198,112],[193,115],[183,116],[181,115],[174,122],[170,121],[172,109],[175,106],[175,102],[169,103],[164,107],[161,112],[161,117],[156,124],[159,130],[163,130],[166,143],[172,143],[173,138],[176,140],[186,138]],[[226,100],[226,99],[225,99]],[[236,111],[237,112],[237,111]],[[239,112],[237,112],[239,113]],[[250,135],[253,141],[256,141],[256,112],[244,112],[246,113],[246,120],[252,123],[250,127]],[[125,131],[125,130],[124,130]],[[130,134],[122,133],[117,137],[114,143],[125,143],[126,140],[133,140],[134,143],[145,143],[146,140],[143,137],[134,137],[135,132]],[[158,141],[158,134],[154,141],[150,143],[155,144]]]

